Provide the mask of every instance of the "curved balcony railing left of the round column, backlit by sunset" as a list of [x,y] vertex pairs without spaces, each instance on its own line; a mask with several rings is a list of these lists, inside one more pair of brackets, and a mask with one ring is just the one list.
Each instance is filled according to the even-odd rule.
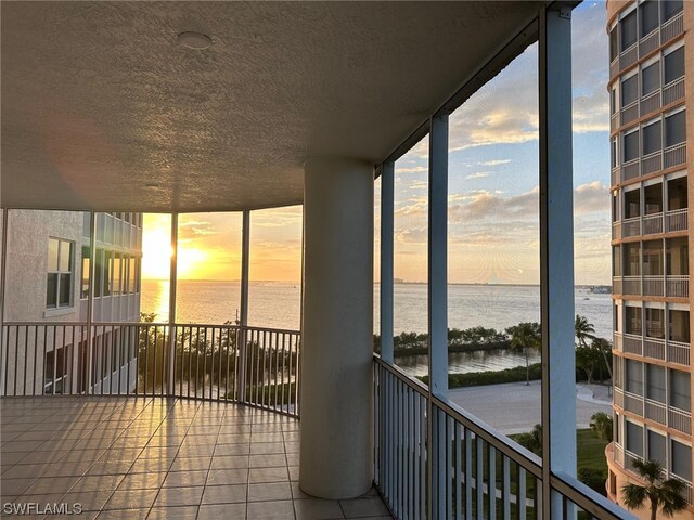
[[7,323],[2,343],[4,395],[177,396],[299,414],[295,330]]

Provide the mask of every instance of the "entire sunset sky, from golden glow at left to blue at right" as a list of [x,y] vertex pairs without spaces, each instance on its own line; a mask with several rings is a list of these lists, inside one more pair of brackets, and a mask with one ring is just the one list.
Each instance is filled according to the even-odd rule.
[[[611,276],[605,24],[603,2],[574,11],[578,284],[608,284]],[[534,44],[450,118],[452,283],[539,282],[537,61]],[[426,153],[424,140],[396,162],[395,276],[410,282],[426,280]],[[376,182],[376,203],[378,196]],[[377,237],[377,204],[375,213]],[[168,277],[169,232],[170,217],[145,216],[143,277]],[[299,281],[300,207],[252,212],[250,236],[250,280]],[[240,213],[179,216],[179,278],[237,280],[240,256]]]

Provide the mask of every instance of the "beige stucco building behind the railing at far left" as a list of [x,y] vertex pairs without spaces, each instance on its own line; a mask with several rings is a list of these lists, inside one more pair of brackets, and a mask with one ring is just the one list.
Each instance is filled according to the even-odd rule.
[[91,214],[8,212],[3,340],[14,348],[5,363],[33,369],[1,370],[5,395],[127,392],[137,384],[137,333],[119,323],[140,321],[142,214],[93,213],[93,255]]

